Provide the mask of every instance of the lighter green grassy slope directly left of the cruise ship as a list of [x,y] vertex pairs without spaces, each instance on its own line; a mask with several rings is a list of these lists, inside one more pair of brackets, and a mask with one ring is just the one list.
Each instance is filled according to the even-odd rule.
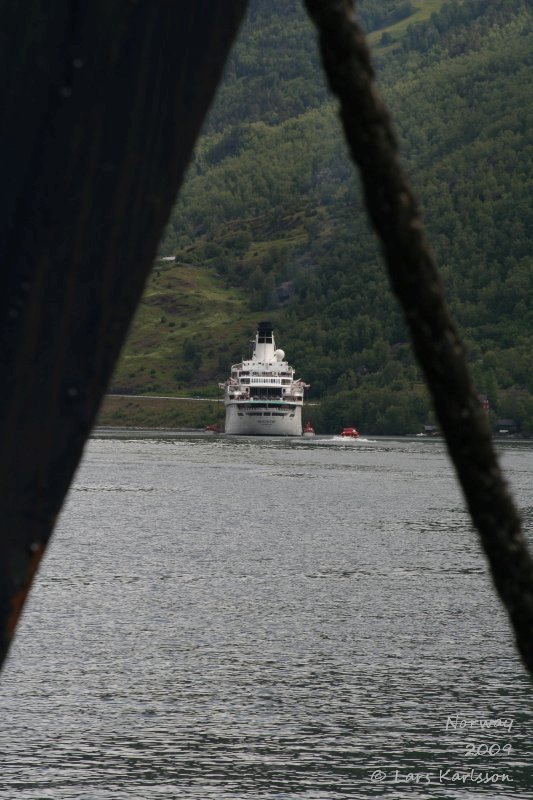
[[111,391],[179,394],[181,389],[186,394],[194,384],[202,387],[203,396],[216,396],[228,358],[241,357],[254,325],[246,294],[224,286],[213,268],[160,261]]

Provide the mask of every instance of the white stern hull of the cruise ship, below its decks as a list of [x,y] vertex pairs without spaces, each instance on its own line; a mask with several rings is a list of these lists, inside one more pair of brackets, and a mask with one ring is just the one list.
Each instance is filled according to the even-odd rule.
[[301,436],[302,408],[231,403],[226,406],[225,432],[236,436]]

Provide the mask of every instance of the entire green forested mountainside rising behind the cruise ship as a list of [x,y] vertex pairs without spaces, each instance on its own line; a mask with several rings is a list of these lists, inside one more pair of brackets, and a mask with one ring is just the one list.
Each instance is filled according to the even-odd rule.
[[[533,431],[528,2],[358,3],[494,420]],[[267,315],[324,430],[430,408],[300,3],[252,2],[113,388],[206,396]]]

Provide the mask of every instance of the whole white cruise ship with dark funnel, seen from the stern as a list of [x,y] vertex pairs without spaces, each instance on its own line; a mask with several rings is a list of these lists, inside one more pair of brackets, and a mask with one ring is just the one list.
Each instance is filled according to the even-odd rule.
[[301,436],[304,390],[294,379],[283,350],[276,349],[271,322],[257,326],[252,357],[231,367],[220,383],[226,407],[225,432],[237,436]]

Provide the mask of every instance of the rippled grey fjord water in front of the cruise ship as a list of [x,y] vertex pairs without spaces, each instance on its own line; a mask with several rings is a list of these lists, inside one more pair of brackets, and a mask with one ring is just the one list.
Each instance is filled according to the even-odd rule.
[[[531,532],[533,446],[500,450]],[[438,441],[92,440],[1,687],[9,800],[533,785],[531,684]]]

